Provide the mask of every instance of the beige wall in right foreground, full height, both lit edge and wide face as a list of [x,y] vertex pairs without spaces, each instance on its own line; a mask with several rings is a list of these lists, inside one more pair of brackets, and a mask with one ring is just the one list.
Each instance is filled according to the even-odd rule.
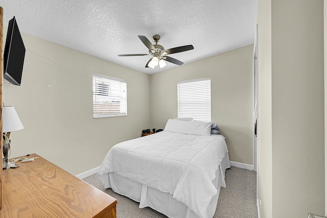
[[322,3],[259,1],[262,217],[324,214]]

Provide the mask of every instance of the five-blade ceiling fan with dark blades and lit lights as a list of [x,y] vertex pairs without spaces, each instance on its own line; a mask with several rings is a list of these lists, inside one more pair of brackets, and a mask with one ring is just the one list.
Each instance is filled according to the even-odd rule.
[[174,53],[179,53],[179,52],[185,52],[194,49],[193,45],[184,45],[184,46],[179,46],[179,47],[173,47],[172,49],[167,49],[165,50],[164,46],[159,45],[158,41],[160,41],[160,36],[159,35],[154,35],[152,37],[152,40],[155,42],[155,44],[152,44],[150,40],[145,37],[138,35],[138,38],[141,39],[141,41],[145,44],[145,46],[148,47],[149,49],[149,54],[128,54],[128,55],[118,55],[121,57],[126,57],[126,56],[149,56],[152,55],[153,58],[150,58],[148,63],[145,65],[145,67],[151,67],[154,69],[155,66],[159,64],[160,68],[165,67],[167,64],[165,61],[171,62],[173,64],[177,65],[182,65],[183,62],[169,57],[167,55],[174,54]]

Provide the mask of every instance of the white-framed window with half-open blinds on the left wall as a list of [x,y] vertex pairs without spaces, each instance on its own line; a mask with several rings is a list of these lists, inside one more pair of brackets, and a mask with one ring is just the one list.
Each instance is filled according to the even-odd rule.
[[93,74],[93,117],[126,115],[126,80]]

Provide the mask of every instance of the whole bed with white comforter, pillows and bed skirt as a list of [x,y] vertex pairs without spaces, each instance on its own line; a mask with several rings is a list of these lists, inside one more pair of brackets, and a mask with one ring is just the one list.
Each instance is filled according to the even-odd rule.
[[169,119],[164,131],[113,146],[98,178],[139,208],[168,217],[213,217],[230,167],[225,138],[211,134],[213,126]]

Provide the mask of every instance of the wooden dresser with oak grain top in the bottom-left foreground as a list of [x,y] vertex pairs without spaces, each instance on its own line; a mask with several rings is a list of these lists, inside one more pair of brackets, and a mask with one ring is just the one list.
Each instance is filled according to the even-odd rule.
[[3,171],[0,217],[115,218],[117,200],[39,157]]

